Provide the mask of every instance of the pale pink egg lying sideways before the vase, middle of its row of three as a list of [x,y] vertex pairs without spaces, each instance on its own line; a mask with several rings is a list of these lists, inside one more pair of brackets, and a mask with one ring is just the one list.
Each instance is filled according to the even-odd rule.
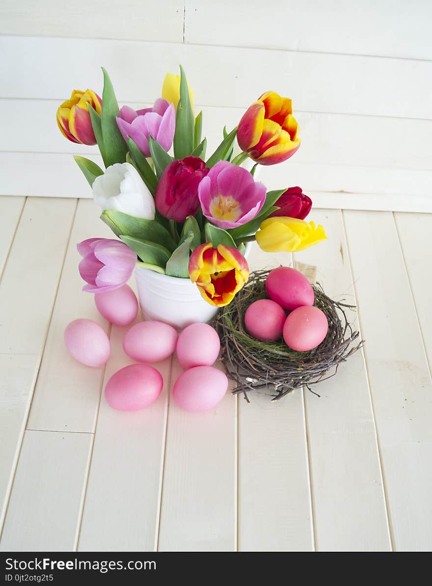
[[137,362],[159,362],[176,349],[177,332],[164,322],[136,323],[123,338],[123,350]]

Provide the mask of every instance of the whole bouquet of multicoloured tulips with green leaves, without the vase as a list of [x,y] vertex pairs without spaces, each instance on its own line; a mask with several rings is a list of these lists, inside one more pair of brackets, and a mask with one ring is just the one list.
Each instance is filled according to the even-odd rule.
[[[168,73],[153,107],[117,104],[103,70],[102,100],[75,90],[57,121],[72,142],[99,147],[105,170],[82,156],[75,161],[102,208],[100,216],[120,240],[78,245],[84,291],[122,287],[135,265],[190,278],[209,304],[224,306],[249,277],[245,244],[298,251],[326,238],[305,222],[311,199],[298,187],[267,191],[255,181],[257,165],[286,161],[300,146],[289,98],[262,94],[231,132],[224,128],[207,156],[203,113],[194,115],[193,91],[183,68]],[[237,138],[240,153],[233,156]],[[248,171],[242,163],[249,163]]]

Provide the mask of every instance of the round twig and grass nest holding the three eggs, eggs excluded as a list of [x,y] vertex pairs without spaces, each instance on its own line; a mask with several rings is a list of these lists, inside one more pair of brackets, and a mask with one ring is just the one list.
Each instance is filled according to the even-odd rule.
[[[353,306],[333,301],[319,284],[312,285],[314,305],[326,314],[329,331],[318,347],[309,352],[296,352],[283,339],[261,342],[252,338],[245,329],[244,315],[251,303],[268,298],[265,290],[268,273],[252,272],[247,285],[230,305],[221,308],[212,323],[221,339],[222,362],[237,383],[232,393],[243,393],[248,403],[249,391],[268,394],[272,401],[298,387],[305,386],[312,391],[313,384],[334,376],[338,364],[363,344],[363,340],[358,340],[359,332],[353,331],[346,316],[346,309]],[[333,369],[335,372],[329,374]]]

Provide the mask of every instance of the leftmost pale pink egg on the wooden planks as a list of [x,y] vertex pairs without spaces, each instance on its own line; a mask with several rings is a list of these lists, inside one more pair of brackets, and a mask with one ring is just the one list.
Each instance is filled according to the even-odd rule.
[[69,353],[86,366],[103,366],[110,357],[110,340],[99,324],[91,319],[75,319],[65,329]]

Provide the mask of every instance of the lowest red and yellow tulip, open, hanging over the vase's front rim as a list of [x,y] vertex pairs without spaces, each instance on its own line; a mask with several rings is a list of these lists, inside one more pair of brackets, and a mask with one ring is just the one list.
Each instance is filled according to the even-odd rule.
[[191,281],[202,297],[217,307],[228,305],[249,278],[249,267],[237,248],[211,242],[195,248],[189,261]]

